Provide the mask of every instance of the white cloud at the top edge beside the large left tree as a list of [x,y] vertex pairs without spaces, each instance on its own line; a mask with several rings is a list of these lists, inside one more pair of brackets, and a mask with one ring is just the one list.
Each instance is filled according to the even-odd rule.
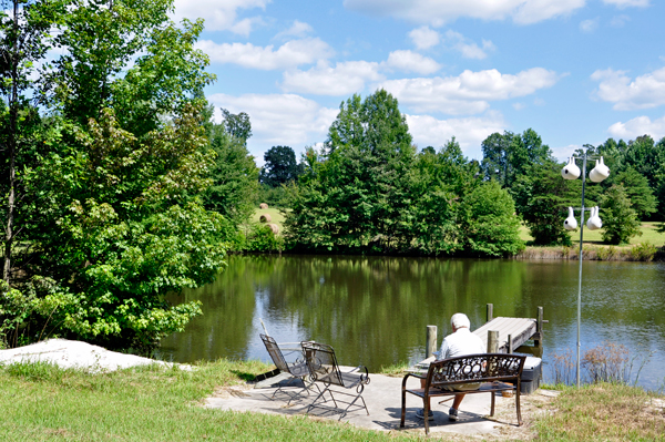
[[228,30],[242,35],[248,35],[252,25],[260,23],[259,18],[244,19],[236,22],[238,9],[265,9],[270,0],[175,0],[174,19],[205,19],[207,31]]

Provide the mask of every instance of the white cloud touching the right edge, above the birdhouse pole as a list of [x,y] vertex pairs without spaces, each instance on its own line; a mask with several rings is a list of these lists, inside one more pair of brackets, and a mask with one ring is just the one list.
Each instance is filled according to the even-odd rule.
[[625,71],[606,69],[595,71],[591,79],[600,81],[595,95],[614,103],[616,111],[656,107],[665,104],[665,68],[637,76],[635,80]]

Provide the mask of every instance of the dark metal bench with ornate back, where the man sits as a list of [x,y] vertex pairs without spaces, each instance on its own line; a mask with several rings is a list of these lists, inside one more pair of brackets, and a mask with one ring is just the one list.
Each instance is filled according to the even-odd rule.
[[[402,411],[400,426],[405,426],[407,412],[407,393],[422,398],[424,415],[429,413],[430,398],[454,395],[458,393],[490,393],[494,415],[494,393],[498,391],[515,391],[518,425],[522,424],[520,413],[520,380],[526,357],[507,353],[469,354],[458,358],[433,361],[427,374],[408,373],[402,380]],[[417,378],[424,380],[424,388],[407,389],[407,380]],[[478,390],[451,391],[456,386],[480,383]],[[424,432],[429,434],[429,421],[424,419]]]

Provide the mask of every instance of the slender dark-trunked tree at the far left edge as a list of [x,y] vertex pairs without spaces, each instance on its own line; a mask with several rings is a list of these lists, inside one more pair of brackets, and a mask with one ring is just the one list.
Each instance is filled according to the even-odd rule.
[[[3,269],[9,286],[12,277],[14,243],[22,230],[21,209],[25,195],[22,172],[34,166],[35,152],[47,138],[38,109],[34,106],[33,76],[35,64],[49,50],[50,30],[64,10],[61,1],[2,1],[0,10],[0,191],[7,201],[2,212]],[[42,141],[40,143],[40,140]],[[18,224],[17,224],[18,222]]]

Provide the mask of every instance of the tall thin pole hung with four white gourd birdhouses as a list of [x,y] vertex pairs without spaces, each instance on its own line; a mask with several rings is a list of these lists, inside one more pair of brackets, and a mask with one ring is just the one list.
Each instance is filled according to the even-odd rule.
[[[579,209],[580,210],[580,255],[579,255],[579,259],[580,259],[580,275],[579,275],[579,280],[577,280],[577,363],[576,363],[576,377],[577,377],[577,388],[580,388],[580,347],[582,347],[582,343],[580,342],[580,326],[582,322],[582,261],[583,261],[583,241],[584,241],[584,210],[586,209],[584,207],[584,189],[586,187],[586,161],[587,160],[595,160],[595,158],[591,158],[587,156],[589,153],[589,148],[586,151],[584,151],[584,156],[582,157],[575,157],[574,155],[570,157],[569,163],[563,167],[563,169],[561,171],[561,176],[564,177],[564,179],[576,179],[580,176],[580,173],[582,175],[582,207],[575,207],[574,209]],[[577,165],[575,164],[576,160],[582,160],[582,171],[580,171],[580,167],[577,167]],[[610,168],[604,164],[603,162],[603,157],[601,156],[600,160],[596,160],[596,165],[595,167],[589,173],[589,179],[591,179],[594,183],[600,183],[602,181],[604,181],[605,178],[607,178],[610,176]],[[586,227],[589,227],[590,230],[595,230],[598,229],[603,226],[603,223],[601,222],[601,218],[598,217],[598,207],[592,207],[591,209],[591,216],[589,217],[589,220],[586,222]],[[577,222],[575,220],[575,217],[573,215],[573,207],[569,207],[569,217],[563,222],[563,226],[567,229],[567,230],[574,230],[575,228],[577,228]]]

